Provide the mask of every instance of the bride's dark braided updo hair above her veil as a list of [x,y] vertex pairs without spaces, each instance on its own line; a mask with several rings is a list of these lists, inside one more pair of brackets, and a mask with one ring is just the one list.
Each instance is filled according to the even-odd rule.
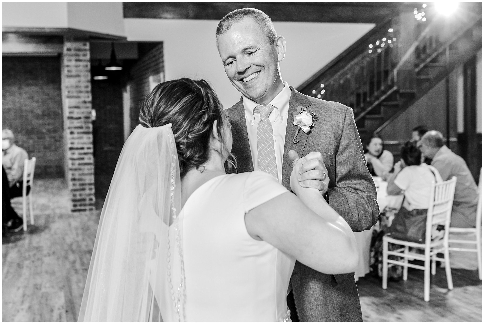
[[224,141],[224,127],[230,122],[207,81],[181,78],[160,83],[146,96],[139,110],[139,123],[144,127],[173,124],[181,178],[209,160],[215,120],[222,139],[223,152],[218,153],[228,155],[227,162],[234,166],[234,157]]

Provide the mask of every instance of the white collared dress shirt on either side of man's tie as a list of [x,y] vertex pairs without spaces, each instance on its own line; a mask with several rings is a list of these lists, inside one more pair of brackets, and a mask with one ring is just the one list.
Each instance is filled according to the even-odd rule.
[[[282,183],[282,160],[284,155],[284,144],[286,140],[287,114],[289,112],[289,99],[291,98],[291,89],[287,82],[284,82],[284,88],[269,104],[275,108],[269,115],[269,121],[272,124],[274,133],[275,163],[277,166],[277,179]],[[242,103],[245,111],[245,124],[247,126],[247,135],[249,136],[249,146],[252,153],[252,163],[254,170],[259,169],[257,160],[257,126],[260,120],[260,114],[254,113],[259,105],[255,101],[242,96]]]

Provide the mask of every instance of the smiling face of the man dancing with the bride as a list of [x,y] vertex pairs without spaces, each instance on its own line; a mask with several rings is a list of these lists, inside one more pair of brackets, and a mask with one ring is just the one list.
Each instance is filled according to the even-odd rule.
[[281,36],[270,44],[266,34],[252,18],[236,22],[217,39],[230,82],[244,96],[268,104],[282,90],[278,62],[284,58]]

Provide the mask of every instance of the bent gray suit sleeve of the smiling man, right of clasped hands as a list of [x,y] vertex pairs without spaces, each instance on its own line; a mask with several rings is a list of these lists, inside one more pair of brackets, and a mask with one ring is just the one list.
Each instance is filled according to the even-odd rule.
[[379,214],[377,190],[368,172],[360,135],[348,108],[335,156],[335,187],[328,189],[329,204],[353,232],[370,229]]

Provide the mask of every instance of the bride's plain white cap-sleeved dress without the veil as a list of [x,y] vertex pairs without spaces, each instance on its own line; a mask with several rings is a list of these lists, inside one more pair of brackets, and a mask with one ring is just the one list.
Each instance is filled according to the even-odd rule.
[[[244,220],[246,212],[285,192],[272,176],[255,171],[212,178],[188,198],[179,215],[186,321],[289,320],[295,259],[249,236]],[[164,321],[176,318],[164,314],[169,304],[160,309]]]

